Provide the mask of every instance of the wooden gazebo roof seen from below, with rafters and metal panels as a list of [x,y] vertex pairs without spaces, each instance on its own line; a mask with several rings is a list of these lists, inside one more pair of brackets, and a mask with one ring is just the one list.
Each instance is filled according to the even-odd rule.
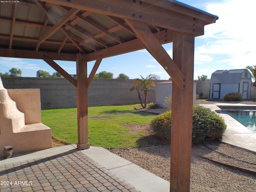
[[[88,60],[144,48],[125,19],[148,25],[161,44],[172,32],[202,35],[217,16],[168,0],[20,0],[0,3],[0,56],[75,60],[67,54],[88,54]],[[59,56],[56,56],[58,53]],[[25,56],[24,56],[25,57]]]

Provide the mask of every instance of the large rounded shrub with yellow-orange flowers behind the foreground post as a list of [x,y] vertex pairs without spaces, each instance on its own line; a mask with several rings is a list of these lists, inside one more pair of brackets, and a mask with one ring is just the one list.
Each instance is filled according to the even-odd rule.
[[[158,115],[151,122],[153,131],[166,139],[170,139],[172,112]],[[203,106],[193,106],[192,142],[199,143],[205,138],[220,138],[226,130],[222,117]]]

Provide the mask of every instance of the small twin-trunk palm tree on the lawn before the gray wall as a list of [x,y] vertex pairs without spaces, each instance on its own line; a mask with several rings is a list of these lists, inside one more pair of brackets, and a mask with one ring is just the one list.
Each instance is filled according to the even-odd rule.
[[[139,78],[135,79],[134,83],[132,84],[132,88],[130,88],[130,92],[132,92],[133,90],[136,90],[138,93],[138,98],[140,100],[140,104],[142,108],[146,108],[148,103],[148,92],[152,91],[151,86],[155,86],[155,83],[152,80],[151,74],[146,78],[142,77],[141,75],[140,77],[141,79]],[[144,105],[141,100],[140,90],[144,91],[144,95],[145,95]]]

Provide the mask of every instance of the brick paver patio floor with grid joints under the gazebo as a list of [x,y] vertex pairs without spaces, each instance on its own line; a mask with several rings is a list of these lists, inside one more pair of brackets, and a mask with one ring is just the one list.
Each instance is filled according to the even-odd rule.
[[74,149],[47,158],[0,165],[0,192],[138,192]]

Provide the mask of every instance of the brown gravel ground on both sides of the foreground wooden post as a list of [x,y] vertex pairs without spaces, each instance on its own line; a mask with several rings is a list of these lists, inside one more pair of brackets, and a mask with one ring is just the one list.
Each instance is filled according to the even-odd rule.
[[[217,141],[206,142],[206,146],[229,156],[256,163],[256,154],[247,150]],[[221,166],[202,157],[256,171],[255,164],[228,158],[206,146],[198,144],[192,147],[191,192],[256,192],[255,175]],[[111,151],[170,181],[170,145],[112,149]]]

